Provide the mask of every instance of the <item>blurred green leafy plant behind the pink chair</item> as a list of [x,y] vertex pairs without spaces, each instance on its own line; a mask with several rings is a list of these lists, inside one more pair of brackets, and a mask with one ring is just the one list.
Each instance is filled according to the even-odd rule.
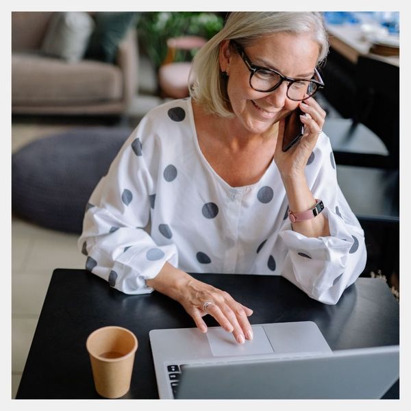
[[[166,57],[168,38],[191,35],[210,39],[222,28],[223,18],[212,12],[141,12],[137,24],[140,46],[156,70]],[[176,61],[190,60],[194,53],[180,51]]]

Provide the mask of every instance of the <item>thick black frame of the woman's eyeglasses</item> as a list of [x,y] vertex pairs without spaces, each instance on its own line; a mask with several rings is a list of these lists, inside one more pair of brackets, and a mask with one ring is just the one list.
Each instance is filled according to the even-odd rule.
[[[281,86],[282,82],[288,82],[288,86],[287,86],[287,97],[288,97],[288,90],[290,89],[291,84],[296,83],[296,82],[301,82],[301,81],[315,83],[317,85],[317,88],[312,93],[312,95],[309,95],[308,97],[305,97],[304,99],[298,99],[298,100],[290,99],[290,97],[288,97],[288,99],[290,99],[292,101],[304,101],[304,100],[309,99],[310,97],[312,97],[318,90],[320,90],[321,88],[324,88],[324,86],[325,86],[325,84],[323,82],[323,79],[321,78],[321,75],[320,75],[319,71],[316,68],[314,68],[314,77],[317,77],[318,80],[314,80],[314,79],[292,79],[291,77],[286,77],[285,75],[282,75],[282,73],[279,73],[278,71],[275,71],[273,69],[269,69],[268,67],[257,66],[256,64],[253,64],[251,62],[250,58],[248,57],[248,55],[245,53],[244,49],[238,44],[238,42],[236,42],[235,40],[230,40],[230,42],[232,43],[232,45],[234,45],[234,47],[236,48],[236,51],[238,52],[238,54],[242,58],[242,61],[245,62],[245,65],[247,66],[247,69],[249,69],[249,71],[250,71],[249,84],[250,84],[250,87],[253,90],[256,90],[256,91],[259,91],[259,92],[271,92],[271,91],[274,91],[276,88],[279,88],[279,86]],[[269,90],[259,90],[258,88],[254,88],[253,86],[251,86],[251,79],[253,78],[253,75],[258,70],[264,70],[264,71],[269,71],[271,73],[275,73],[280,78],[279,82],[274,87],[269,88]]]

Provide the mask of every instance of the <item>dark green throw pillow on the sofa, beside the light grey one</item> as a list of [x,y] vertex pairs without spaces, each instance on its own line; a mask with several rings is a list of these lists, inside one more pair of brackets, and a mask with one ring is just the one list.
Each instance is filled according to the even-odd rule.
[[136,12],[97,12],[86,58],[113,63],[119,43],[136,22]]

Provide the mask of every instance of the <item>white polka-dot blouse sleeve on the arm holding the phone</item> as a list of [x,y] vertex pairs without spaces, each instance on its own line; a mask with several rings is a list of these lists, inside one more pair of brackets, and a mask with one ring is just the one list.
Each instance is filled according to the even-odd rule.
[[329,138],[322,134],[318,145],[312,154],[319,157],[316,176],[308,181],[324,202],[330,236],[308,238],[292,231],[287,219],[279,232],[287,250],[282,275],[313,299],[335,304],[364,270],[366,248],[364,231],[338,186]]

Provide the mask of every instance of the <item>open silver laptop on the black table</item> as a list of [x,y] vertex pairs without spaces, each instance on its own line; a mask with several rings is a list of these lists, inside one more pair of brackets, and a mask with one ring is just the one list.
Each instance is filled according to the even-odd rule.
[[332,351],[312,321],[149,332],[160,399],[375,399],[399,378],[399,346]]

